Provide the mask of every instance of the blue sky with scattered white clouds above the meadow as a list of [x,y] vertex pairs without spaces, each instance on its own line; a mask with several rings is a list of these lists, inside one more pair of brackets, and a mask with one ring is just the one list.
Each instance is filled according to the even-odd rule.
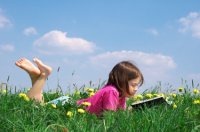
[[[200,1],[0,1],[0,83],[31,87],[14,65],[38,57],[53,68],[45,89],[94,87],[129,60],[145,89],[200,80]],[[58,71],[59,69],[59,71]]]

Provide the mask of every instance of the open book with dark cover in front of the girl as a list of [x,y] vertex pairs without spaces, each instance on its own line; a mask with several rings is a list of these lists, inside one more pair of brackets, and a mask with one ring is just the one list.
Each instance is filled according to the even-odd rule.
[[131,104],[131,106],[133,107],[133,109],[138,109],[138,108],[144,108],[145,106],[152,107],[152,106],[164,104],[164,103],[168,104],[167,101],[164,99],[164,97],[160,96],[160,97],[154,97],[151,99],[134,102]]

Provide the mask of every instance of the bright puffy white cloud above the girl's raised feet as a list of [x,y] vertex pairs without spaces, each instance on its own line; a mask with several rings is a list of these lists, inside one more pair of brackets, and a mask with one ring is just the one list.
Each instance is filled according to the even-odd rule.
[[68,37],[66,32],[53,30],[34,42],[34,47],[44,54],[90,53],[95,45],[82,38]]

